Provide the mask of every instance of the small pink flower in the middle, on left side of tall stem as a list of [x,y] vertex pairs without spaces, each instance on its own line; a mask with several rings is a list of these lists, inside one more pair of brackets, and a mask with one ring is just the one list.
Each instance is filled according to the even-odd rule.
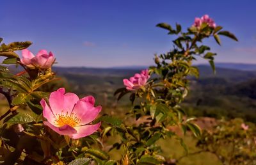
[[140,74],[135,74],[130,79],[124,79],[124,85],[127,90],[133,91],[138,90],[141,86],[145,86],[149,79],[148,70],[142,70]]

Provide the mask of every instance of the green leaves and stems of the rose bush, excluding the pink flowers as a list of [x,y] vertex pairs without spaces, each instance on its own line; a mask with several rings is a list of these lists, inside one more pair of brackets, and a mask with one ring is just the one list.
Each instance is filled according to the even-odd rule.
[[[15,64],[24,68],[24,71],[14,75],[8,68],[0,66],[0,93],[7,98],[10,107],[1,116],[1,120],[4,119],[4,123],[8,125],[0,133],[1,143],[3,141],[4,144],[1,147],[9,152],[0,153],[4,164],[167,164],[168,158],[161,155],[162,150],[157,141],[172,137],[178,139],[188,152],[183,139],[172,129],[180,128],[184,134],[189,131],[196,138],[202,136],[200,128],[193,122],[195,118],[188,118],[180,107],[188,95],[188,77],[199,76],[198,68],[192,66],[193,61],[198,56],[204,58],[209,61],[212,70],[215,70],[216,54],[211,52],[210,47],[202,44],[203,40],[213,37],[220,44],[219,35],[233,40],[237,38],[228,31],[221,31],[221,26],[214,29],[206,23],[199,28],[192,26],[185,32],[180,24],[175,24],[175,28],[172,28],[169,24],[161,23],[157,27],[166,29],[168,35],[175,35],[177,38],[173,40],[170,52],[155,56],[156,65],[150,67],[151,79],[145,86],[134,91],[119,88],[114,93],[117,100],[129,95],[131,111],[124,120],[108,114],[100,116],[93,121],[102,122],[99,132],[81,139],[70,139],[45,127],[40,100],[44,98],[48,102],[49,92],[59,85],[50,83],[59,79],[51,68],[41,70],[20,63],[19,56],[14,51],[26,49],[31,42],[2,43],[0,56],[6,57],[3,64]],[[8,116],[10,113],[12,114]],[[109,136],[118,136],[118,141],[109,148],[109,151],[122,150],[122,157],[118,161],[110,160],[104,146]],[[11,146],[13,148],[9,149]]]

